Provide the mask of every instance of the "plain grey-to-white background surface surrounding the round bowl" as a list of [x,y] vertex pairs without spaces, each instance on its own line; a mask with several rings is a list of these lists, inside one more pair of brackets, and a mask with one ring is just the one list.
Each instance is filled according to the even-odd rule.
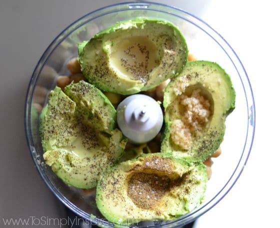
[[[61,216],[25,141],[28,81],[44,49],[65,26],[116,2],[120,1],[0,0],[0,219]],[[198,220],[197,227],[279,227],[278,6],[273,1],[242,0],[171,4],[200,16],[231,44],[247,70],[256,101],[249,161],[229,194]]]

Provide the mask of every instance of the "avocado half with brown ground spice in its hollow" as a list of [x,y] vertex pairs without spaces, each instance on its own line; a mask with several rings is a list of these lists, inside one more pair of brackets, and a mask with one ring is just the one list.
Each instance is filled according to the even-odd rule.
[[200,162],[146,154],[108,168],[98,181],[96,204],[118,224],[175,219],[200,205],[206,181]]

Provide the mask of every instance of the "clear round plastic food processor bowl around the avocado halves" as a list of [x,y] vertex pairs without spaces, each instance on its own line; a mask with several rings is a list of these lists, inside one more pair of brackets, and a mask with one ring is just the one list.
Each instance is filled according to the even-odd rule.
[[[253,94],[242,63],[229,44],[199,18],[163,4],[128,2],[95,10],[74,21],[49,44],[30,79],[25,103],[27,143],[42,179],[62,203],[92,224],[113,226],[101,216],[94,197],[88,197],[82,190],[64,184],[50,167],[43,163],[38,117],[40,106],[46,102],[47,92],[55,86],[57,75],[69,73],[65,64],[67,60],[77,56],[76,43],[89,39],[116,21],[138,16],[165,19],[177,25],[186,38],[189,53],[197,59],[219,63],[231,76],[236,90],[236,108],[226,119],[226,131],[221,144],[222,153],[213,159],[212,177],[207,183],[204,203],[176,220],[146,221],[136,224],[137,227],[181,226],[205,213],[230,190],[248,158],[255,124]],[[90,218],[90,214],[96,217]]]

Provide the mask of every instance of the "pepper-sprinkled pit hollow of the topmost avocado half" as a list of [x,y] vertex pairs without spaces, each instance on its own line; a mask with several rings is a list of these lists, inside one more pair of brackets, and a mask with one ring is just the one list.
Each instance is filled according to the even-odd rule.
[[148,74],[159,62],[156,46],[146,36],[132,36],[119,40],[111,48],[111,65],[134,80],[146,82],[149,79]]

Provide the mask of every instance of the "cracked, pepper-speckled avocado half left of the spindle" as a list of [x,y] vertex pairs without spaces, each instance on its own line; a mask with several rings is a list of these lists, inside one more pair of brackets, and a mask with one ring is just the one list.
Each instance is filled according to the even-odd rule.
[[65,93],[55,87],[40,115],[45,163],[69,185],[96,186],[125,147],[115,115],[108,99],[87,82],[71,83]]

